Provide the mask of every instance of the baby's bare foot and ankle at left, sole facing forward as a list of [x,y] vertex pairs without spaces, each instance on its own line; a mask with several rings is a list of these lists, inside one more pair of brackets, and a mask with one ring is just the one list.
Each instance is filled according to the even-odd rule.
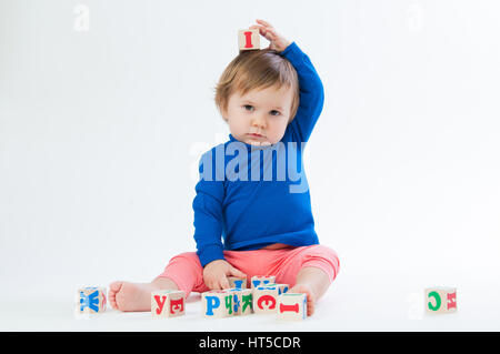
[[177,290],[168,279],[157,279],[151,283],[113,282],[109,284],[108,300],[111,307],[123,312],[151,311],[151,291]]

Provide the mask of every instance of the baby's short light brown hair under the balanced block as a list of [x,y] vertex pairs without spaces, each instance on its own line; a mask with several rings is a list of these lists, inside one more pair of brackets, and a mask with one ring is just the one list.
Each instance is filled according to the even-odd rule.
[[293,65],[271,49],[240,51],[229,63],[216,87],[216,105],[219,112],[227,110],[229,98],[238,92],[246,94],[253,89],[283,85],[293,90],[290,122],[299,108],[299,79]]

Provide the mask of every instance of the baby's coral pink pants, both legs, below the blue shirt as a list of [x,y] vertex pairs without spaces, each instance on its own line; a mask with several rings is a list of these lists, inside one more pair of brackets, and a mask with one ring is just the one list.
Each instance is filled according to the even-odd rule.
[[[281,250],[224,251],[226,261],[247,274],[248,285],[253,275],[276,275],[276,282],[296,284],[299,271],[306,266],[322,270],[330,283],[336,279],[340,263],[337,253],[320,244]],[[159,277],[172,280],[186,296],[210,289],[203,282],[203,267],[196,252],[186,252],[172,257]]]

